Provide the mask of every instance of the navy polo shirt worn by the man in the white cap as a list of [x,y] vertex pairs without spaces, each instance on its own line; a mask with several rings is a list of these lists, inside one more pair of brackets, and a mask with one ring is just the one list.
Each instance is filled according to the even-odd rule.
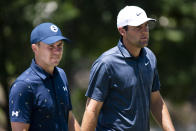
[[149,131],[151,92],[159,89],[152,51],[142,48],[136,59],[120,40],[91,69],[86,96],[104,102],[96,131]]

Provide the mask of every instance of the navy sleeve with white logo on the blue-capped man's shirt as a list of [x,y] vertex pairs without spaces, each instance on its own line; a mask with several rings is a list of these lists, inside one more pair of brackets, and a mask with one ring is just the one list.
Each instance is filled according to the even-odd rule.
[[30,123],[33,105],[31,86],[23,81],[15,82],[9,94],[9,115],[11,122]]

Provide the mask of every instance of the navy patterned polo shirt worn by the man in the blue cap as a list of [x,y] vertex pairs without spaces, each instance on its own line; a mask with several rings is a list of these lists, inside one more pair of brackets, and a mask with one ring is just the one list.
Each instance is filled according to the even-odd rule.
[[51,76],[32,60],[11,87],[10,120],[30,124],[30,131],[68,131],[71,109],[67,78],[58,67]]

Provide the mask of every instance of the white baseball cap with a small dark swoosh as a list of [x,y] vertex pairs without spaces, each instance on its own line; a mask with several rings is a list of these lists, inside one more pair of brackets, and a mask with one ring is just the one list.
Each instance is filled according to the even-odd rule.
[[139,26],[147,21],[156,21],[148,18],[146,12],[137,6],[125,6],[120,10],[117,16],[117,27],[123,26]]

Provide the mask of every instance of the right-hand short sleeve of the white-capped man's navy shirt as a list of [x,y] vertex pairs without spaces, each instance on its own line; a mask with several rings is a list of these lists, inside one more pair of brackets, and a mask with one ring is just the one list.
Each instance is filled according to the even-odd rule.
[[153,79],[153,85],[152,85],[152,92],[160,90],[160,80],[159,80],[159,74],[157,71],[157,68],[155,68],[154,72],[154,79]]

